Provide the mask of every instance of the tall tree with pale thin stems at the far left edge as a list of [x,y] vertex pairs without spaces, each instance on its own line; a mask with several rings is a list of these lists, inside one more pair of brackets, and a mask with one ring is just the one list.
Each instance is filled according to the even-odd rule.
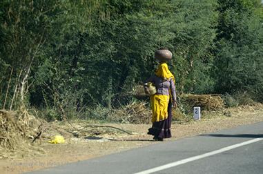
[[[62,1],[0,1],[0,59],[3,108],[26,102],[32,74],[61,39]],[[4,97],[5,96],[5,97]]]

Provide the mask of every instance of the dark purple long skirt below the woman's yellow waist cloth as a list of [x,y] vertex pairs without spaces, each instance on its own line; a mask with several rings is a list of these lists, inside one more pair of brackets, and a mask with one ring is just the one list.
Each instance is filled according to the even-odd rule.
[[168,118],[160,122],[153,122],[153,126],[148,129],[148,134],[157,138],[171,138],[171,122],[172,122],[172,102],[168,103]]

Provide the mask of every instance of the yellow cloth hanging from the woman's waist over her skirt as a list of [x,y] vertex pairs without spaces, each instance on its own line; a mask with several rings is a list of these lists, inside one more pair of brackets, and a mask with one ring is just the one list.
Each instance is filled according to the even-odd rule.
[[159,122],[168,117],[168,95],[151,95],[150,106],[153,111],[152,122]]

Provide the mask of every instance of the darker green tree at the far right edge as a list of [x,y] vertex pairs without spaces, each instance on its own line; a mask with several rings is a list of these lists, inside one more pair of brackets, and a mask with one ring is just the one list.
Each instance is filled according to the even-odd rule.
[[262,96],[263,20],[254,10],[262,6],[254,6],[253,1],[224,4],[218,26],[215,88],[219,93],[248,90]]

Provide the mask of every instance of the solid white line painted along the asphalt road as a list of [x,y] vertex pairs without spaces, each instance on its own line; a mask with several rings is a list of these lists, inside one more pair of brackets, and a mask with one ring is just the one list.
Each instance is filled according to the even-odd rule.
[[225,151],[229,151],[233,148],[238,148],[240,146],[245,146],[247,144],[251,144],[251,143],[254,143],[254,142],[259,142],[263,140],[263,138],[256,138],[256,139],[251,139],[247,142],[242,142],[242,143],[239,143],[239,144],[234,144],[232,146],[227,146],[227,147],[224,147],[224,148],[220,148],[216,151],[211,151],[211,152],[208,152],[208,153],[204,153],[202,155],[197,155],[197,156],[194,156],[194,157],[188,157],[184,160],[179,160],[177,162],[171,162],[171,163],[168,163],[168,164],[165,164],[163,166],[158,166],[158,167],[155,167],[155,168],[150,168],[146,171],[142,171],[142,172],[139,172],[139,173],[135,173],[135,174],[149,174],[149,173],[154,173],[154,172],[157,172],[157,171],[162,171],[164,169],[167,169],[167,168],[171,168],[171,167],[174,167],[174,166],[179,166],[181,164],[186,164],[188,162],[193,162],[195,160],[199,160],[199,159],[202,159],[204,157],[209,157],[211,155],[216,155],[218,153],[222,153],[222,152],[225,152]]

